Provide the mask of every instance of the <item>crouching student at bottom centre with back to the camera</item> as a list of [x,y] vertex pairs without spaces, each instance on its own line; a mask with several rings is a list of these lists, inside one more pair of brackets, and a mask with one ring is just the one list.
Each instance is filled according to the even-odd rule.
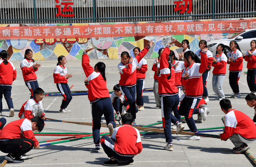
[[103,165],[117,166],[117,160],[133,164],[133,157],[141,153],[141,137],[139,131],[132,127],[132,124],[132,114],[126,113],[122,118],[123,126],[116,127],[111,138],[108,136],[101,137],[101,146],[110,158]]

